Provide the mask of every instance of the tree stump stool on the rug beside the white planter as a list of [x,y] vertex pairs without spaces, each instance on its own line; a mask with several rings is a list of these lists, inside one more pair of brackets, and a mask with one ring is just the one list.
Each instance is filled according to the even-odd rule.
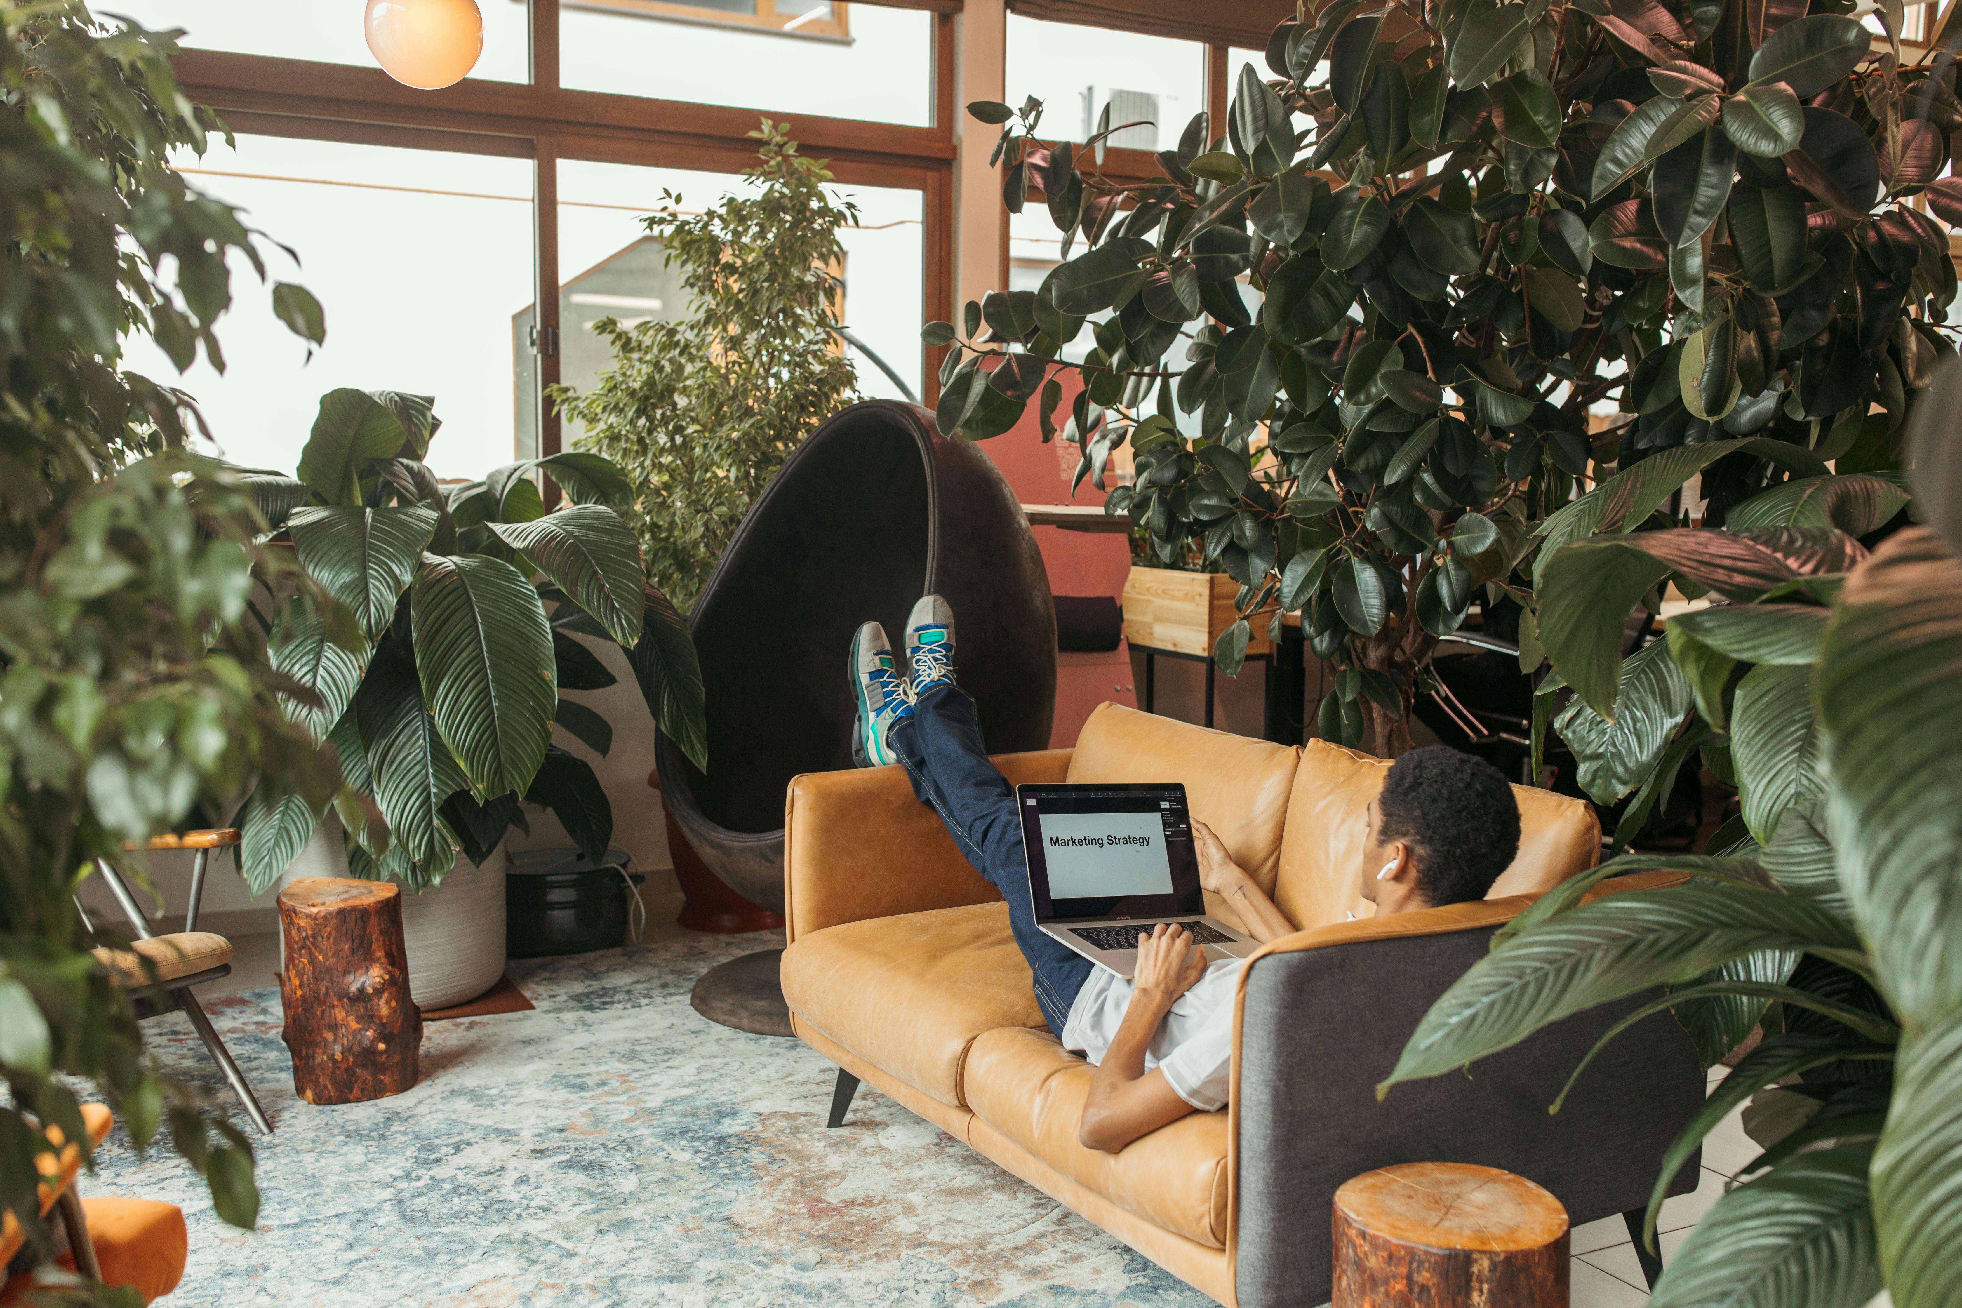
[[392,882],[302,877],[279,892],[281,1039],[308,1104],[357,1104],[416,1084],[422,1010],[408,998]]

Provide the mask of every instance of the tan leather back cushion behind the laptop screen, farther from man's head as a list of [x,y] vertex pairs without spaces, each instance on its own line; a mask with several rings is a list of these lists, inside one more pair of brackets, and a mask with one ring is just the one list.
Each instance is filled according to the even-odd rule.
[[[1281,867],[1281,828],[1287,822],[1297,757],[1301,751],[1291,745],[1101,704],[1077,735],[1069,780],[1185,782],[1193,818],[1213,828],[1234,863],[1271,894]],[[1240,924],[1213,894],[1207,894],[1207,912]]]

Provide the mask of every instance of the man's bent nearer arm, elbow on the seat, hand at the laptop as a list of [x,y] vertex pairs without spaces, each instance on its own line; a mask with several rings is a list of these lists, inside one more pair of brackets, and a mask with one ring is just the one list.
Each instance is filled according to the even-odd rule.
[[1144,1071],[1144,1053],[1152,1047],[1158,1024],[1171,1004],[1205,977],[1207,955],[1193,945],[1185,928],[1160,922],[1150,935],[1138,937],[1138,971],[1132,979],[1130,1004],[1116,1028],[1116,1037],[1097,1065],[1089,1098],[1083,1100],[1083,1122],[1077,1139],[1085,1149],[1116,1153],[1140,1135],[1193,1112],[1165,1082],[1165,1073]]

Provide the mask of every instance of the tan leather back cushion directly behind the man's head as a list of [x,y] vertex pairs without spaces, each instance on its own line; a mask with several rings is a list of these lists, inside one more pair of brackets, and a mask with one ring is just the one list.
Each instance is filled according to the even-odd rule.
[[[1362,849],[1369,800],[1383,788],[1389,761],[1313,739],[1295,769],[1287,837],[1273,902],[1301,930],[1368,918],[1362,898]],[[1075,780],[1075,769],[1071,769]],[[1519,800],[1519,853],[1485,898],[1550,890],[1601,859],[1601,824],[1593,808],[1552,790],[1513,786]]]

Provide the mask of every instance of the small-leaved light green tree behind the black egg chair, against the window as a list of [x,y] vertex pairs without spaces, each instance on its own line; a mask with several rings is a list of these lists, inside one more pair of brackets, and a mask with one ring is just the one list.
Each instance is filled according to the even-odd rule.
[[614,369],[585,394],[549,392],[585,426],[579,445],[626,473],[624,514],[647,577],[683,612],[797,443],[855,398],[834,329],[838,229],[857,222],[857,206],[824,190],[824,161],[799,155],[781,124],[765,118],[749,135],[763,143],[744,171],[755,194],[685,214],[681,196],[663,192],[667,206],[642,220],[681,269],[689,318],[602,318],[594,331]]

